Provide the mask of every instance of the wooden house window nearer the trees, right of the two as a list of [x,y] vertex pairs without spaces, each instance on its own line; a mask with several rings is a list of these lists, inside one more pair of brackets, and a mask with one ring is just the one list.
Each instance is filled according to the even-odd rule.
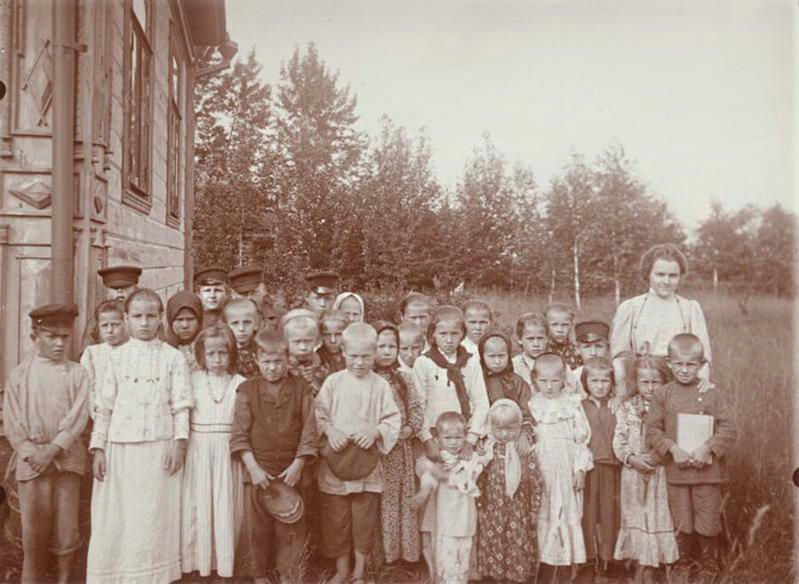
[[167,224],[180,225],[180,201],[183,193],[184,143],[183,108],[184,63],[180,52],[178,28],[170,24],[170,100],[167,113]]

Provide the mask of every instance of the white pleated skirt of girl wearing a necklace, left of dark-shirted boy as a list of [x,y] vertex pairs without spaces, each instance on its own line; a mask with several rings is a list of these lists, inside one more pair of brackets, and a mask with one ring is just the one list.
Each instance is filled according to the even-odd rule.
[[181,569],[233,576],[244,515],[241,462],[231,461],[230,435],[192,432],[186,454],[181,517]]

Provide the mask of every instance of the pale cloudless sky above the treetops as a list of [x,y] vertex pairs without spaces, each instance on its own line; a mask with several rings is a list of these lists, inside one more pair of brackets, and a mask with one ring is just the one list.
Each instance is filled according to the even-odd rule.
[[[357,95],[424,129],[454,187],[485,132],[546,188],[573,154],[621,144],[637,178],[690,233],[710,202],[780,202],[792,189],[789,0],[227,0],[241,56],[266,83],[316,43]],[[799,174],[797,174],[799,176]]]

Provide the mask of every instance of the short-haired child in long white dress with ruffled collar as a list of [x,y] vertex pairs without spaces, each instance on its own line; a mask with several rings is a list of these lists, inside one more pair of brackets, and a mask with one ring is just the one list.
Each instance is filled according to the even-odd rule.
[[580,399],[565,391],[566,362],[557,353],[535,359],[530,399],[535,423],[535,454],[543,478],[538,516],[539,581],[558,577],[559,566],[585,562],[582,539],[582,490],[593,468],[591,430]]

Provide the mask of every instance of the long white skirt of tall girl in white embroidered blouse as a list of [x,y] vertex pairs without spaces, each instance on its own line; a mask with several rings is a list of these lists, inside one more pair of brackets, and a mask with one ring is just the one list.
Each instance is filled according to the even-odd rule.
[[168,584],[180,579],[183,471],[167,474],[170,440],[106,447],[107,472],[91,493],[86,582]]

